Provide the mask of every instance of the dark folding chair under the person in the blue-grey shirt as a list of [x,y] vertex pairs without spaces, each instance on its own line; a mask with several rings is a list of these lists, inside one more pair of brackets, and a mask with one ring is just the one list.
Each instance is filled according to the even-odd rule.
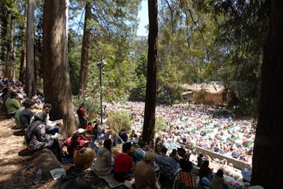
[[172,188],[175,188],[176,176],[182,168],[175,170],[175,167],[172,164],[167,164],[163,161],[158,161],[157,164],[159,166],[160,175],[168,179],[167,181],[173,181]]

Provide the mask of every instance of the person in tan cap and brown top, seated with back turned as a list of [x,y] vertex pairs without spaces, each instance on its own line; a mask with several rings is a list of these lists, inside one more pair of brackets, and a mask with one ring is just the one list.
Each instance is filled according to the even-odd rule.
[[[149,151],[144,156],[144,161],[137,162],[134,168],[134,188],[161,188],[158,179],[156,178],[156,171],[152,164],[156,159],[156,154]],[[127,183],[125,181],[124,183]]]

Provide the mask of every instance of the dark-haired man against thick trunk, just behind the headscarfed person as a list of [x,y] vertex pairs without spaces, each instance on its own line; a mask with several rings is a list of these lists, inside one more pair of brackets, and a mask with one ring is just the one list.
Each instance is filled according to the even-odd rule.
[[[46,133],[54,135],[56,132],[59,133],[59,131],[60,131],[59,125],[62,125],[62,120],[51,121],[50,120],[50,116],[49,116],[49,113],[50,113],[51,109],[52,109],[52,105],[50,103],[45,103],[43,105],[42,110],[40,110],[37,113],[40,113],[40,112],[43,111],[43,112],[45,112],[47,114],[47,118],[46,118]],[[35,115],[37,113],[35,113]],[[34,118],[34,116],[33,116],[33,118]],[[33,118],[32,118],[31,121],[33,121]]]

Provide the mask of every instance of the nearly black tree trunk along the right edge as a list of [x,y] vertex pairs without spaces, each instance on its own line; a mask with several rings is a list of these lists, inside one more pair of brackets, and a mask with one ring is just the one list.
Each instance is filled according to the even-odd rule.
[[263,52],[258,126],[251,185],[282,188],[283,1],[271,0],[270,30]]

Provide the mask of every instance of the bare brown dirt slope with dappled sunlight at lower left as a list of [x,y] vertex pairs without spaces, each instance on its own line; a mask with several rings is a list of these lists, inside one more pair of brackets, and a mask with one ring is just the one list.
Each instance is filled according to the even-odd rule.
[[[1,107],[0,127],[0,188],[57,188],[57,181],[53,181],[52,178],[43,178],[40,183],[33,183],[37,168],[47,162],[38,163],[33,159],[35,158],[33,154],[27,153],[23,143],[23,132],[16,127],[12,119],[6,118],[6,113]],[[66,169],[71,164],[59,164],[59,166]],[[91,171],[86,171],[86,177],[96,188],[109,188],[105,181]]]

